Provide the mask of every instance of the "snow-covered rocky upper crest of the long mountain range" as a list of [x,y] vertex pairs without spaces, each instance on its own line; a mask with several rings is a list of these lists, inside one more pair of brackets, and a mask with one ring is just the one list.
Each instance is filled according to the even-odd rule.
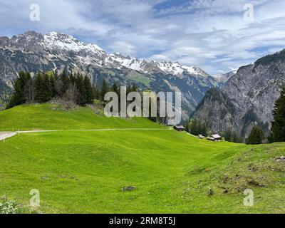
[[[82,65],[96,65],[107,68],[128,68],[141,73],[155,73],[161,72],[178,76],[179,78],[185,77],[190,74],[202,78],[208,78],[209,74],[202,71],[197,66],[183,66],[180,63],[173,63],[171,61],[146,61],[145,59],[132,58],[130,56],[123,56],[121,53],[106,53],[102,48],[93,43],[83,43],[73,36],[51,32],[42,36],[41,33],[35,31],[28,31],[23,35],[14,36],[14,42],[18,48],[23,51],[48,51],[52,55],[66,60],[67,56],[72,56],[73,61],[78,59],[78,63]],[[6,38],[1,38],[0,43],[9,43]],[[38,44],[38,48],[34,45]],[[68,52],[72,52],[70,55]],[[75,55],[74,55],[75,53]]]

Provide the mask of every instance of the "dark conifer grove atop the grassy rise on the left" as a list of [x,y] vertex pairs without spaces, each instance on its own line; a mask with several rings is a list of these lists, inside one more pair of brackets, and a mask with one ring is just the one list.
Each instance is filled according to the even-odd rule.
[[[112,86],[103,79],[102,86],[92,85],[88,76],[80,73],[58,74],[58,71],[38,72],[35,77],[31,73],[20,71],[14,82],[14,90],[6,108],[13,108],[24,103],[46,103],[53,98],[60,98],[64,103],[77,105],[92,104],[94,99],[104,100],[106,93],[113,91],[120,97],[120,85]],[[138,91],[138,86],[133,83],[127,86],[127,94]]]

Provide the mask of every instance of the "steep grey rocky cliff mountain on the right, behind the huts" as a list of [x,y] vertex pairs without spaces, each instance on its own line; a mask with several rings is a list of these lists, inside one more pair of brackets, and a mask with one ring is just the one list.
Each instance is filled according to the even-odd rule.
[[239,68],[222,90],[209,90],[192,117],[219,133],[229,128],[247,137],[253,125],[260,125],[268,134],[282,86],[285,50]]

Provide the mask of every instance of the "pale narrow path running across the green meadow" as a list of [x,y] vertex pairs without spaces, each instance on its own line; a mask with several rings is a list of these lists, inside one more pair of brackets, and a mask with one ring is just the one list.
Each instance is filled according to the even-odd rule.
[[90,130],[20,130],[17,132],[0,132],[0,141],[10,138],[17,133],[28,134],[28,133],[52,133],[52,132],[64,132],[64,131],[113,131],[113,130],[172,130],[171,128],[160,129],[160,128],[107,128],[107,129],[90,129]]

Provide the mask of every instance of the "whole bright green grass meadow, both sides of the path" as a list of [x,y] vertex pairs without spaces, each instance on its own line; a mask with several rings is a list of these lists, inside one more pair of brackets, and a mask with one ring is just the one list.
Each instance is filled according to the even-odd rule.
[[[284,213],[285,144],[199,140],[147,119],[63,111],[51,104],[0,112],[0,130],[65,130],[0,141],[0,196],[41,213]],[[76,131],[99,128],[161,130]],[[135,190],[123,192],[123,187]],[[245,207],[243,191],[254,191]]]

